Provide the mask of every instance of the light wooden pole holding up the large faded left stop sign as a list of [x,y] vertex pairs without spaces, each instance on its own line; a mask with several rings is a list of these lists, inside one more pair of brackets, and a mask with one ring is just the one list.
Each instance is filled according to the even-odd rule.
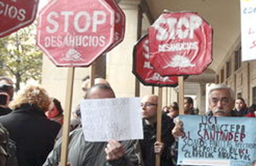
[[70,126],[70,113],[72,106],[72,94],[73,94],[73,84],[74,84],[74,70],[75,68],[68,68],[68,78],[67,78],[67,89],[65,98],[65,112],[64,112],[64,123],[63,123],[63,133],[62,133],[62,143],[61,143],[61,160],[60,165],[67,165],[68,156],[68,133]]

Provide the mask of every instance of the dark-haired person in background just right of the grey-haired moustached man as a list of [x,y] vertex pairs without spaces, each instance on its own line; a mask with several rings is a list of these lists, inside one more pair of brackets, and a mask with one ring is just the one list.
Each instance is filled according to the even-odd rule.
[[232,110],[232,112],[232,114],[235,114],[236,116],[245,116],[249,113],[243,98],[236,99],[235,108]]

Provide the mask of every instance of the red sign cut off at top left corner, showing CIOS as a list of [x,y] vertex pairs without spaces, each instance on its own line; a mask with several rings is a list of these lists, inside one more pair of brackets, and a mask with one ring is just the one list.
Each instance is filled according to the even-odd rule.
[[0,1],[0,38],[31,24],[35,18],[38,0]]

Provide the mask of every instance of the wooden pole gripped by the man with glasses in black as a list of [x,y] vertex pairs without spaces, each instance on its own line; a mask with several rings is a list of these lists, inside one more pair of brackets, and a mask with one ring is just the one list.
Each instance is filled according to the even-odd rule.
[[[163,98],[163,87],[158,88],[158,102],[157,102],[157,126],[156,126],[156,140],[161,142],[161,132],[162,132],[162,98]],[[161,165],[161,156],[159,154],[156,154],[156,166]]]

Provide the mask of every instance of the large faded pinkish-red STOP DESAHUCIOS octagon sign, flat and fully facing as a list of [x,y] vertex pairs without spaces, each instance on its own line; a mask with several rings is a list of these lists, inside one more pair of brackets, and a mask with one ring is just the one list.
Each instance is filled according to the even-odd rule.
[[89,66],[113,43],[114,11],[104,0],[54,0],[39,13],[36,45],[56,66]]

